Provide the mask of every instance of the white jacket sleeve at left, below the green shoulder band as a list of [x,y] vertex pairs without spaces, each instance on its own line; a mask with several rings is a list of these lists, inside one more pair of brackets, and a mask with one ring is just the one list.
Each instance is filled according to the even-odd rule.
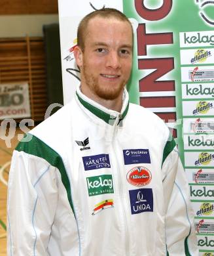
[[7,199],[7,255],[47,255],[58,200],[56,167],[14,150]]

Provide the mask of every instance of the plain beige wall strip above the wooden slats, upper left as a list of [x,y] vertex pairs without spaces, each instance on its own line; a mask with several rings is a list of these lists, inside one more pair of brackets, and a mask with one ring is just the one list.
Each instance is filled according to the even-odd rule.
[[52,23],[58,14],[0,15],[0,37],[43,36],[43,25]]

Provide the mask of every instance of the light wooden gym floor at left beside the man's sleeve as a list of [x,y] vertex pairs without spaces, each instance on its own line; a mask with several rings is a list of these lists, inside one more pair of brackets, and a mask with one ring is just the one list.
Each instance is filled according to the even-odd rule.
[[5,140],[0,138],[0,256],[7,255],[6,245],[6,223],[7,223],[7,180],[9,177],[10,160],[12,151],[18,144],[17,135],[22,134],[20,129],[16,129],[16,135],[11,140],[11,147],[5,144]]

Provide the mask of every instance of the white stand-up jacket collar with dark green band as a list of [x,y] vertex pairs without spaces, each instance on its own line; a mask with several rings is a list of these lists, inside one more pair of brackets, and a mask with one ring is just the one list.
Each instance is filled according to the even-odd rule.
[[82,92],[80,91],[80,86],[77,87],[76,95],[77,101],[80,102],[80,104],[84,106],[84,108],[89,110],[92,114],[97,116],[99,119],[102,119],[103,121],[105,121],[105,123],[108,123],[109,125],[114,125],[117,117],[118,123],[120,123],[120,121],[122,121],[128,113],[129,98],[126,89],[124,89],[124,94],[122,98],[122,110],[120,113],[116,112],[115,110],[109,110],[101,104],[98,104],[94,100],[91,100],[86,95],[82,94]]

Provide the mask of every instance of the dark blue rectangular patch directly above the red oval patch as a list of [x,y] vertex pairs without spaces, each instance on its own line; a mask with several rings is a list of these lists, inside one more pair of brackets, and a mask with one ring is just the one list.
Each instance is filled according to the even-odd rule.
[[133,163],[151,163],[149,149],[128,149],[122,150],[125,165]]

